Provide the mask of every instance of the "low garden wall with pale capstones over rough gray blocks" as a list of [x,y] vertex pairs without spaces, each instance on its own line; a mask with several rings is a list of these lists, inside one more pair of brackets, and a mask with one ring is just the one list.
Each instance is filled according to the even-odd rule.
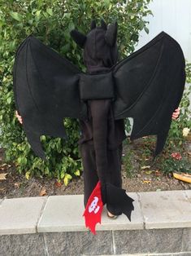
[[191,256],[191,190],[128,195],[132,222],[104,209],[96,236],[85,228],[83,195],[0,199],[0,256]]

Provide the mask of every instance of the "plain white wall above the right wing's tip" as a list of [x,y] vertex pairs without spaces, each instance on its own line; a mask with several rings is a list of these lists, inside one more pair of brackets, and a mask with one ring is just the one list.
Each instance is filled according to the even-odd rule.
[[179,42],[185,59],[191,62],[191,0],[153,0],[149,8],[154,15],[146,19],[150,33],[141,32],[136,50],[164,31]]

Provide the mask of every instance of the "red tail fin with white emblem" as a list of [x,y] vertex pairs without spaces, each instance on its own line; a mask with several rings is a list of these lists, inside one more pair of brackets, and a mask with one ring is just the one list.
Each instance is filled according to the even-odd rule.
[[85,207],[85,227],[89,227],[90,231],[95,235],[95,226],[97,223],[101,224],[101,215],[102,215],[102,192],[101,192],[101,183],[98,181],[96,187],[93,189],[93,192],[89,196],[89,200]]

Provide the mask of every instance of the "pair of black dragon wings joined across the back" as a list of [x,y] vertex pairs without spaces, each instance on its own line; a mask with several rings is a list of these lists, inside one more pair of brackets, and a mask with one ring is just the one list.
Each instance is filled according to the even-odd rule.
[[180,103],[184,80],[180,45],[164,32],[110,72],[95,75],[84,76],[33,36],[24,40],[15,58],[16,108],[23,117],[28,142],[42,158],[40,135],[65,137],[63,118],[84,119],[83,96],[112,98],[110,86],[114,88],[115,119],[133,118],[131,139],[157,135],[157,155],[167,139],[171,114]]

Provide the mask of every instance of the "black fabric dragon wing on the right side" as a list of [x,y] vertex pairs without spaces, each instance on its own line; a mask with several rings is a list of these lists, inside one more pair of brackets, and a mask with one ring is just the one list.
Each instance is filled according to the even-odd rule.
[[155,155],[163,150],[171,114],[184,90],[184,55],[167,33],[157,37],[112,68],[115,119],[133,118],[131,139],[157,135]]

